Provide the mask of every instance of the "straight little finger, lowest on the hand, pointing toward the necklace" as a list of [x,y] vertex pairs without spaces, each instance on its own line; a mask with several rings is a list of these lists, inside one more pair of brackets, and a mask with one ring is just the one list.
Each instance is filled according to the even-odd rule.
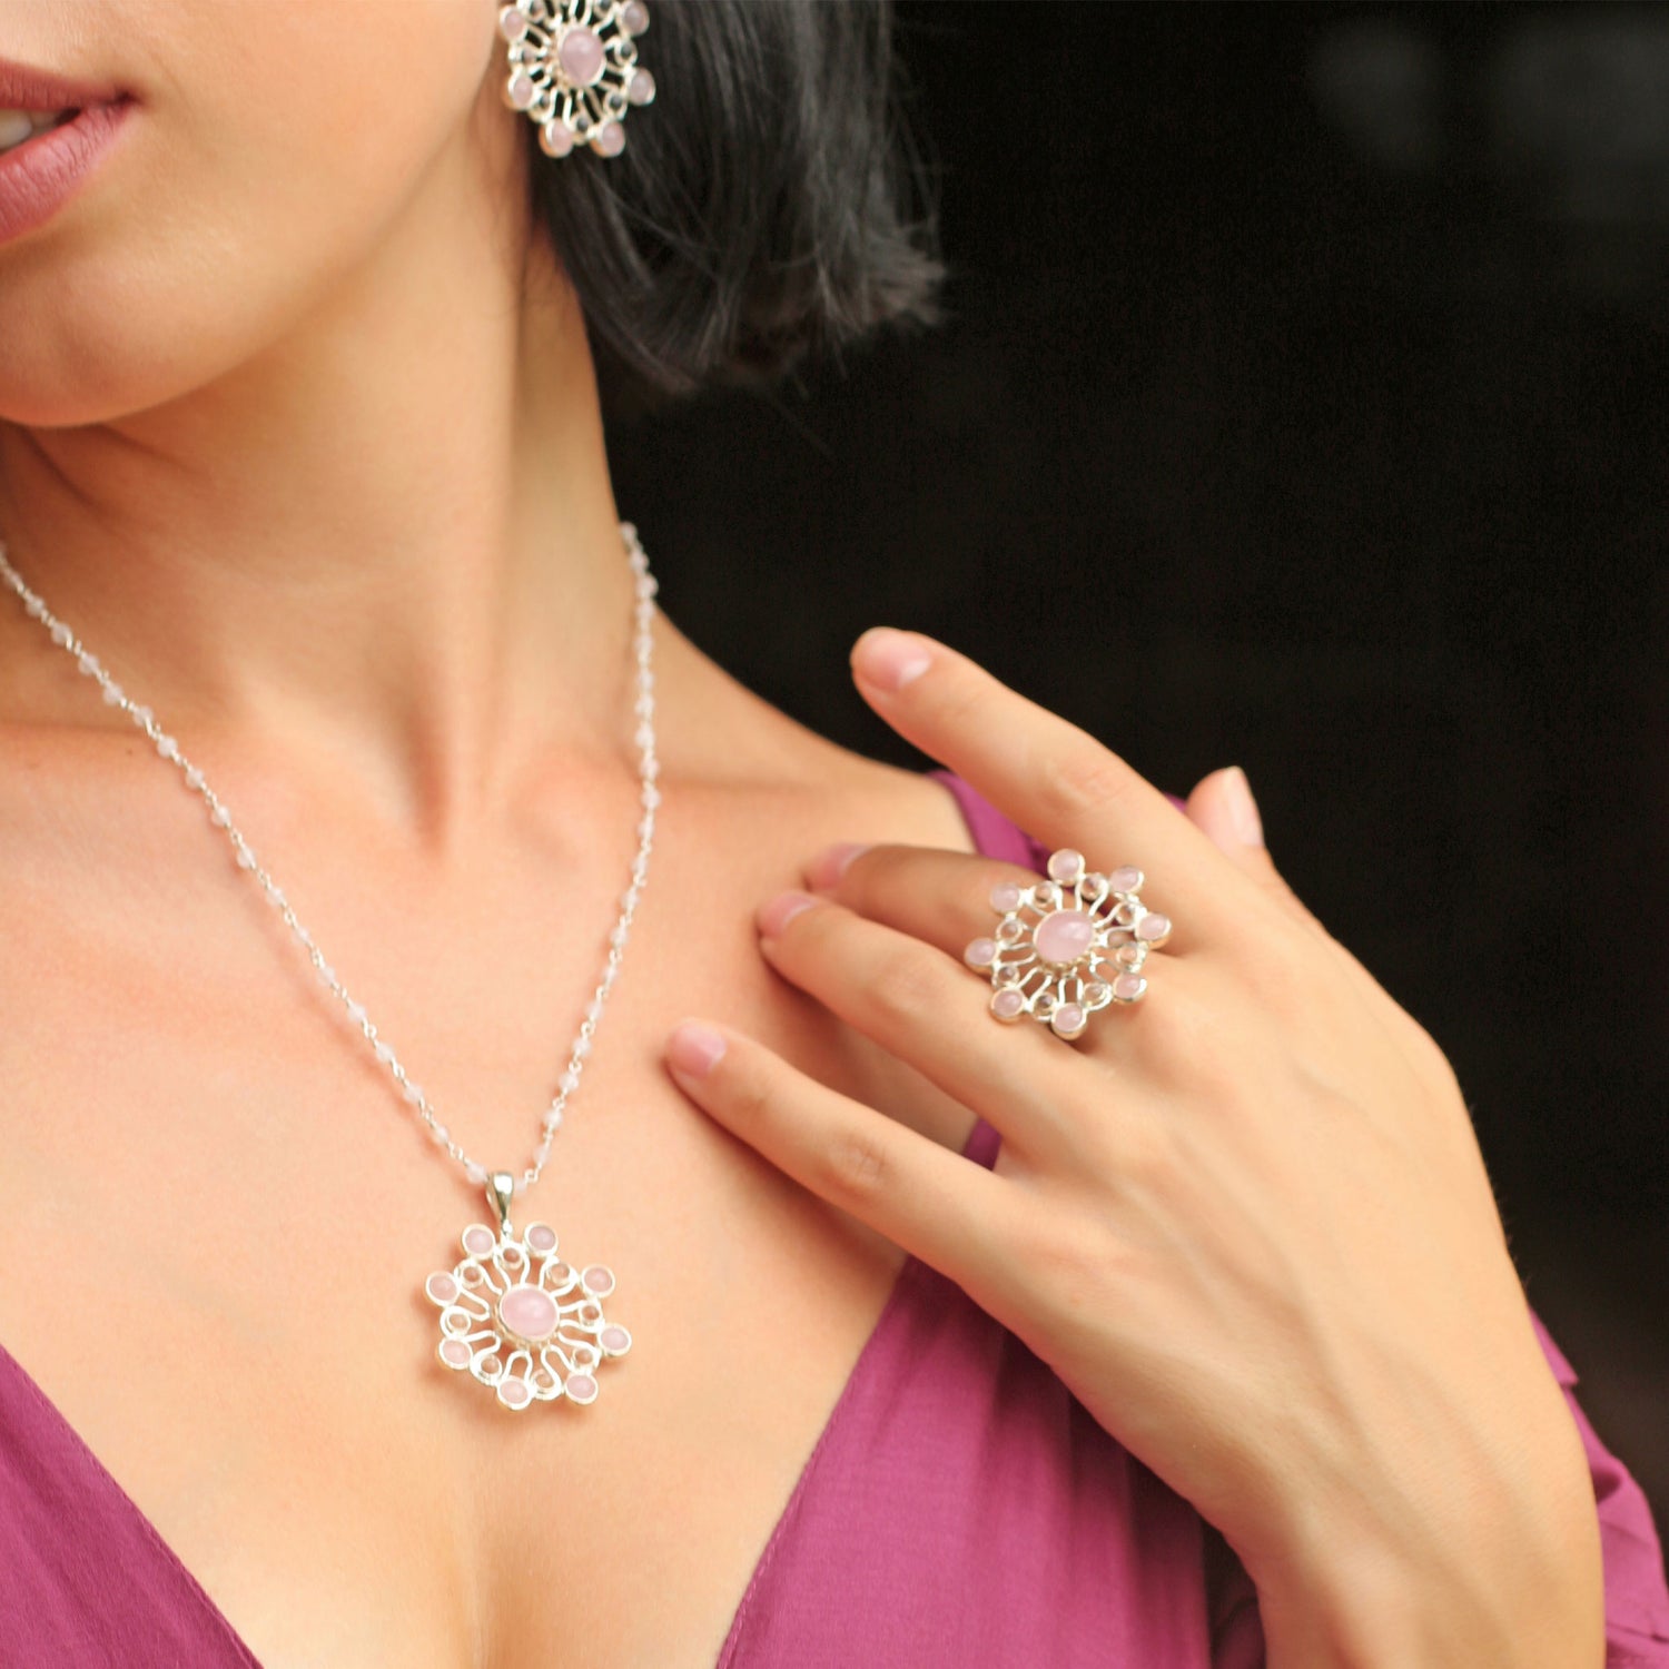
[[1008,1183],[985,1165],[840,1095],[738,1031],[684,1021],[668,1038],[678,1087],[818,1198],[955,1280],[1013,1300],[1003,1252]]

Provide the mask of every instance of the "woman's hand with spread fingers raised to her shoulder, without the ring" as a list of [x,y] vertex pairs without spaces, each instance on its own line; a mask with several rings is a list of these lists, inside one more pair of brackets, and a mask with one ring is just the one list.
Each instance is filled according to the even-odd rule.
[[[1235,838],[1227,774],[1180,816],[943,644],[875,631],[853,663],[881,718],[1028,833],[1147,871],[1173,936],[1148,995],[1068,1045],[996,1023],[961,963],[993,883],[1036,876],[824,856],[816,896],[761,910],[763,955],[990,1120],[995,1167],[711,1021],[669,1040],[678,1083],[955,1280],[1192,1500],[1258,1586],[1272,1662],[1597,1662],[1586,1460],[1442,1051]],[[1567,1656],[1545,1627],[1527,1647],[1535,1626]],[[1354,1629],[1387,1627],[1407,1651],[1355,1656]]]

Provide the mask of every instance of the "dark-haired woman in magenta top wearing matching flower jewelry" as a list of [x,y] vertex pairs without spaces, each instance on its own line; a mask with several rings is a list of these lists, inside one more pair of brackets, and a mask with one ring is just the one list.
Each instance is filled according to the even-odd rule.
[[654,609],[598,364],[933,265],[885,15],[653,13],[0,18],[7,1661],[1669,1662],[1243,779],[883,629],[901,773]]

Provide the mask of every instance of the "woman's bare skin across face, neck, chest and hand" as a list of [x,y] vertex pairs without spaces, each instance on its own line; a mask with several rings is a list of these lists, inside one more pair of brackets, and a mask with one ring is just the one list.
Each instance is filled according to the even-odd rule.
[[[519,1168],[624,880],[636,753],[596,384],[526,219],[499,50],[476,0],[7,8],[0,57],[107,75],[135,108],[77,199],[0,245],[0,534],[204,768],[466,1148]],[[1495,1651],[1519,1606],[1561,1642],[1537,1662],[1597,1662],[1586,1469],[1464,1105],[1360,970],[1335,978],[1344,953],[1242,845],[1233,779],[1187,818],[1160,804],[1177,955],[1143,1011],[1068,1050],[998,1031],[946,960],[990,866],[936,784],[808,734],[664,616],[656,658],[663,834],[531,1197],[618,1270],[639,1344],[606,1419],[541,1424],[402,1367],[434,1327],[416,1283],[479,1192],[197,801],[0,609],[0,1340],[267,1669],[711,1664],[916,1247],[1230,1532],[1278,1661],[1514,1662],[1375,1659],[1354,1629]],[[1160,840],[1112,754],[981,679],[935,649],[910,693],[860,689],[1045,838],[1092,861]],[[873,851],[761,940],[761,901],[853,838]],[[905,873],[936,913],[900,915]],[[1293,973],[1277,996],[1248,923]],[[876,983],[906,951],[935,971]],[[930,1043],[866,1006],[951,975]],[[724,993],[731,1046],[679,1078],[661,1051],[693,991]],[[1319,1016],[1342,1028],[1325,1058],[1295,1043]],[[1060,1128],[935,1082],[946,1050],[1041,1063]],[[955,1160],[975,1112],[1008,1138],[978,1178]],[[1399,1232],[1295,1190],[1300,1162],[1389,1167]],[[1003,1190],[990,1223],[978,1190]],[[1056,1210],[1070,1245],[1038,1232]],[[1419,1253],[1410,1280],[1425,1238],[1459,1262]],[[991,1273],[1016,1245],[1041,1252],[1035,1290]],[[80,1303],[97,1325],[65,1327]],[[1240,1355],[1217,1337],[1213,1382],[1223,1317]],[[1422,1365],[1419,1407],[1387,1362]],[[1252,1447],[1248,1387],[1320,1405]],[[1434,1404],[1442,1467],[1317,1535],[1434,1454]]]

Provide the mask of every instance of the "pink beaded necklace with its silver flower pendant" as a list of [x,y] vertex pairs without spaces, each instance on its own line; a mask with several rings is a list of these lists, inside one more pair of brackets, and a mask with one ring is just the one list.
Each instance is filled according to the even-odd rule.
[[614,1292],[614,1272],[603,1263],[574,1267],[556,1252],[556,1230],[549,1223],[529,1222],[522,1230],[511,1223],[511,1198],[526,1193],[544,1170],[551,1153],[551,1140],[562,1123],[569,1097],[579,1088],[579,1075],[591,1055],[603,1006],[619,975],[621,956],[638,913],[638,898],[649,875],[649,851],[654,845],[654,811],[661,803],[656,778],[661,774],[654,754],[654,671],[651,664],[656,582],[649,572],[649,559],[638,542],[638,529],[621,522],[621,537],[631,562],[634,591],[634,659],[638,696],[638,779],[643,818],[638,823],[638,855],[633,858],[631,883],[621,893],[621,910],[609,933],[609,950],[603,963],[586,1016],[579,1023],[569,1050],[567,1066],[557,1078],[556,1097],[541,1120],[542,1137],[534,1150],[532,1163],[517,1178],[507,1170],[487,1170],[472,1160],[452,1140],[451,1130],[434,1115],[434,1107],[422,1087],[414,1083],[399,1056],[382,1040],[376,1025],[366,1015],[364,1003],[355,1001],[335,970],[324,958],[312,933],[302,926],[284,891],[255,858],[254,850],[232,821],[225,801],[209,786],[204,773],[192,764],[180,744],[157,723],[150,708],[134,701],[105,671],[98,658],[63,624],[33,592],[12,566],[5,542],[0,541],[0,579],[17,592],[25,613],[40,621],[52,641],[73,656],[77,668],[92,678],[103,699],[120,708],[152,741],[157,753],[184,778],[185,786],[209,809],[209,821],[225,834],[237,856],[237,866],[247,871],[262,890],[267,903],[284,918],[290,935],[307,953],[320,983],[347,1011],[349,1021],[359,1030],[376,1058],[387,1068],[406,1102],[429,1127],[429,1137],[446,1150],[447,1157],[477,1187],[486,1187],[492,1208],[492,1223],[471,1223],[459,1235],[462,1258],[452,1268],[434,1270],[424,1282],[424,1293],[441,1310],[441,1340],[436,1355],[457,1372],[469,1372],[482,1385],[497,1394],[506,1409],[527,1409],[536,1402],[587,1404],[598,1395],[598,1367],[609,1359],[623,1357],[631,1349],[631,1334],[618,1322],[603,1315],[603,1300]]

